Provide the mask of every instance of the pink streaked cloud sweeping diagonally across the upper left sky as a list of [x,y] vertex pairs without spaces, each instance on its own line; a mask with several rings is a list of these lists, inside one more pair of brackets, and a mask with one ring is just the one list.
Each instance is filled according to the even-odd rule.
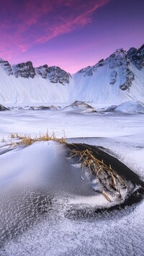
[[24,53],[34,45],[84,27],[110,0],[1,0],[0,55]]

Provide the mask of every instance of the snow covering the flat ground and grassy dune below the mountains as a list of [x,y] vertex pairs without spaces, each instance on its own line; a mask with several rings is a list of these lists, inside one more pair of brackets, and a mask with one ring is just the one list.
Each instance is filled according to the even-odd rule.
[[[94,102],[91,105],[96,107]],[[104,146],[144,180],[144,118],[135,112],[137,106],[138,102],[121,105],[122,111],[130,107],[131,115],[120,111],[89,113],[63,109],[19,110],[17,107],[0,112],[0,138],[10,142],[11,133],[36,136],[47,129],[60,138],[64,130],[68,142]],[[6,146],[6,141],[0,142],[0,154],[12,149]],[[75,173],[75,182],[71,182],[73,175],[68,180],[66,172],[71,168],[78,171],[79,167],[69,166],[63,145],[51,141],[14,149],[1,154],[0,163],[0,214],[4,221],[8,220],[7,226],[3,226],[3,221],[1,227],[9,228],[9,236],[14,221],[19,223],[13,233],[16,238],[6,242],[1,255],[144,254],[143,200],[121,211],[94,214],[94,206],[104,205],[106,201],[103,195],[97,199],[92,193],[84,196],[83,187],[77,186],[77,182],[84,182],[80,172]],[[73,184],[70,189],[69,183]],[[50,191],[55,195],[52,199],[48,199]],[[49,208],[39,208],[39,202],[42,206],[45,200],[51,200]]]

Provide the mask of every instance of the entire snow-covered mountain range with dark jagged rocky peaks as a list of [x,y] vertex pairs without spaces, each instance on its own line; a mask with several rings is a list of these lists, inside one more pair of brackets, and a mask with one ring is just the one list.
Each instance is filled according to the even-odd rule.
[[144,102],[144,45],[116,50],[94,66],[69,74],[47,64],[34,68],[31,61],[11,66],[0,58],[0,103]]

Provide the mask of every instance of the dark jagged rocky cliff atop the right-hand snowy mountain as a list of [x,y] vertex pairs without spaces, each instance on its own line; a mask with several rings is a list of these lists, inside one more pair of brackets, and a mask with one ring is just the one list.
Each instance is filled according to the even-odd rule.
[[[102,66],[107,66],[110,70],[109,84],[114,85],[117,81],[120,82],[120,89],[129,89],[135,75],[130,70],[130,63],[134,63],[137,69],[142,69],[144,66],[144,45],[140,49],[130,48],[125,50],[117,49],[106,60],[101,60],[94,66],[88,66],[85,69],[78,71],[78,74],[84,76],[93,76]],[[104,74],[105,75],[105,74]]]

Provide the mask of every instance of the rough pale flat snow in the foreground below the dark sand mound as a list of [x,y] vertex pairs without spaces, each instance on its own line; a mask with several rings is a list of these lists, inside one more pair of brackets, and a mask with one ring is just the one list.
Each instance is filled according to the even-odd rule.
[[[65,206],[63,206],[65,207]],[[143,255],[141,203],[125,212],[84,221],[48,216],[5,247],[6,255]],[[61,209],[60,209],[61,210]],[[127,218],[127,215],[129,216]],[[55,217],[54,217],[55,216]],[[138,218],[139,216],[139,218]],[[57,221],[58,218],[58,221]],[[51,219],[51,221],[50,221]],[[33,241],[33,244],[32,244]],[[10,250],[9,250],[10,249]],[[12,254],[11,254],[12,253]]]

